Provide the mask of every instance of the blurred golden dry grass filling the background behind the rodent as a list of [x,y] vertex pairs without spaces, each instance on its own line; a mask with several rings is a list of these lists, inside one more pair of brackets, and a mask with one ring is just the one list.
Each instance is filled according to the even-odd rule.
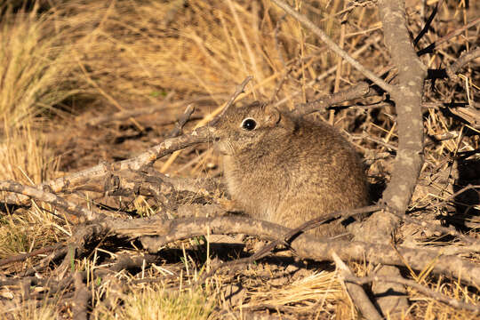
[[[340,1],[321,4],[308,12],[335,37]],[[52,119],[68,129],[68,115],[84,108],[123,110],[170,92],[178,100],[208,95],[220,106],[249,75],[253,97],[266,98],[299,63],[284,96],[301,87],[305,100],[305,91],[329,87],[307,88],[304,74],[314,78],[336,60],[268,1],[7,1],[0,44],[0,179],[34,183],[56,168],[42,134]]]

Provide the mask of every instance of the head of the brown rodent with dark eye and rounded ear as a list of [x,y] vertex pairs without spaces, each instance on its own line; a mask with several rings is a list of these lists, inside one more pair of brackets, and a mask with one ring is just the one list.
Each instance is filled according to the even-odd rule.
[[244,107],[228,108],[214,127],[219,139],[216,149],[232,156],[282,140],[294,130],[294,123],[276,108],[255,101]]

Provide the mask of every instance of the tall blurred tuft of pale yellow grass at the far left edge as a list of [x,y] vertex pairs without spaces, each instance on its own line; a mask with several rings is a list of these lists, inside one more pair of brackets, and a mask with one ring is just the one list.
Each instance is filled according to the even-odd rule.
[[52,177],[40,116],[80,92],[72,89],[68,32],[52,12],[5,9],[0,20],[0,179],[39,183]]

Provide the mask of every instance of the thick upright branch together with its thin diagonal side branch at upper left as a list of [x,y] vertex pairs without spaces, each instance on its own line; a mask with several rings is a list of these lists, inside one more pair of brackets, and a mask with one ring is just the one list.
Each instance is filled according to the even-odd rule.
[[[332,51],[340,55],[357,70],[367,76],[374,84],[377,84],[390,92],[393,100],[396,101],[399,151],[396,156],[396,164],[392,172],[392,179],[383,194],[383,201],[396,208],[400,212],[405,212],[410,203],[413,188],[416,185],[420,174],[421,164],[423,163],[423,122],[421,118],[421,97],[423,92],[423,82],[427,75],[426,68],[418,59],[410,35],[406,28],[406,19],[404,11],[404,2],[383,0],[379,1],[380,19],[384,28],[385,42],[392,56],[392,60],[398,68],[399,84],[392,86],[385,83],[378,76],[375,76],[364,68],[360,63],[351,58],[340,47],[333,43],[324,32],[315,26],[304,15],[296,12],[282,0],[273,0],[275,4],[284,9],[285,12],[299,20],[302,25],[316,34]],[[380,214],[380,213],[379,213]],[[373,218],[374,217],[374,218]],[[362,231],[362,236],[369,237],[370,241],[385,242],[390,232],[396,229],[399,222],[393,216],[382,217],[374,215],[368,223],[375,226],[375,232],[368,230]],[[368,225],[367,225],[368,226]],[[393,271],[393,270],[392,270]],[[385,305],[385,308],[391,309]],[[406,306],[406,300],[403,304]],[[385,308],[382,308],[384,311]]]

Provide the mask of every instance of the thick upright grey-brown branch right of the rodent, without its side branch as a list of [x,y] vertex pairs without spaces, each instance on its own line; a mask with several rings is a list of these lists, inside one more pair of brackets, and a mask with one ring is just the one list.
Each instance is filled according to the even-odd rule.
[[[396,102],[398,149],[391,179],[381,201],[397,212],[405,212],[423,164],[423,119],[421,99],[427,68],[417,56],[407,29],[404,1],[380,0],[378,3],[384,41],[393,64],[398,69],[398,84],[390,94]],[[358,230],[356,239],[388,244],[400,219],[388,212],[375,212]],[[383,267],[380,275],[399,276],[399,270]],[[374,283],[373,292],[404,292],[402,285]],[[377,301],[382,313],[396,313],[408,308],[404,297],[385,296]]]

